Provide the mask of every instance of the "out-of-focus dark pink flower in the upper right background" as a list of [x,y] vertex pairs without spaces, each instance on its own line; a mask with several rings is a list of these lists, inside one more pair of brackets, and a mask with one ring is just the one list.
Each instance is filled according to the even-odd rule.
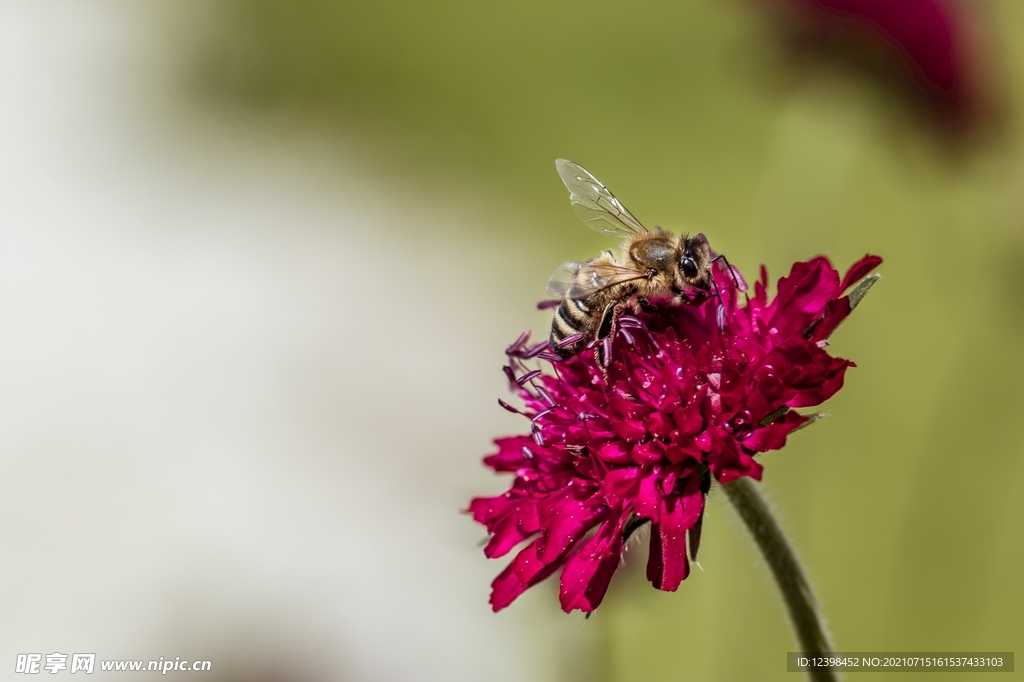
[[787,10],[801,46],[867,70],[946,130],[978,123],[988,102],[982,45],[968,8],[953,0],[759,0]]

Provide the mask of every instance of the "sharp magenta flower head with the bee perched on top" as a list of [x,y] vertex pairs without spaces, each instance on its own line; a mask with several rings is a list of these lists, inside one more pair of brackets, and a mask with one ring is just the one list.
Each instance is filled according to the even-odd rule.
[[[865,256],[842,280],[824,257],[796,263],[772,301],[762,267],[743,305],[717,263],[724,331],[716,298],[653,302],[649,312],[620,315],[603,371],[593,350],[557,361],[523,334],[505,371],[525,408],[500,402],[527,417],[530,433],[495,441],[484,463],[515,480],[469,505],[489,534],[487,557],[526,543],[492,584],[494,609],[561,568],[562,608],[594,610],[625,540],[648,521],[647,578],[676,590],[697,553],[712,478],[760,479],[757,454],[781,447],[809,419],[791,409],[842,388],[853,363],[829,355],[825,339],[852,309],[843,293],[880,262]],[[553,372],[530,370],[535,357]]]

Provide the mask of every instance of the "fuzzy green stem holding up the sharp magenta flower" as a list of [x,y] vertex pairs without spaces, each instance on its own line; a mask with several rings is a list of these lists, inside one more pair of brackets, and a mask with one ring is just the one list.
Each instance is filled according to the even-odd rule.
[[[821,616],[818,615],[811,594],[811,586],[800,569],[793,548],[785,542],[785,536],[771,515],[767,503],[758,493],[757,484],[750,478],[738,478],[722,486],[729,501],[736,508],[739,517],[754,536],[755,542],[761,548],[761,553],[768,562],[782,598],[790,609],[790,617],[800,640],[800,648],[812,656],[831,655],[831,644],[824,628],[821,627]],[[814,682],[837,682],[839,676],[827,668],[812,668],[808,670]]]

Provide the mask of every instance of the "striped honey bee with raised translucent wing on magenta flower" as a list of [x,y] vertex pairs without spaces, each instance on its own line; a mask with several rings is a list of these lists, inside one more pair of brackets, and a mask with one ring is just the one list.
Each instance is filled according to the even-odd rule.
[[584,224],[624,241],[621,257],[605,251],[586,263],[569,261],[551,278],[548,293],[561,299],[551,323],[552,351],[566,359],[598,342],[598,360],[604,366],[621,308],[646,307],[649,298],[688,300],[687,292],[717,295],[718,323],[724,327],[725,309],[711,267],[722,256],[712,253],[703,235],[647,229],[583,166],[559,159],[555,167]]

